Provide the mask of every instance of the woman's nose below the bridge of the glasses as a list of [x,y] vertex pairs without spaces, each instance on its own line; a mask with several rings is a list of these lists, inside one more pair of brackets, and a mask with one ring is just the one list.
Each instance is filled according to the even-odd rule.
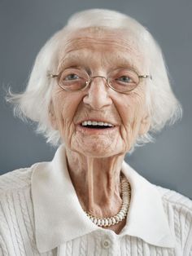
[[105,77],[92,77],[83,102],[96,110],[111,105],[112,100],[109,95],[109,90]]

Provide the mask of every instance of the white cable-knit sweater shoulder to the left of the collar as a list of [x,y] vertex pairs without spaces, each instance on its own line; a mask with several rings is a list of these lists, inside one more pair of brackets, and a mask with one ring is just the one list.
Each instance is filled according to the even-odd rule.
[[25,245],[33,255],[37,254],[31,196],[34,167],[0,176],[0,252],[2,249],[3,255],[19,255],[21,251],[25,255]]

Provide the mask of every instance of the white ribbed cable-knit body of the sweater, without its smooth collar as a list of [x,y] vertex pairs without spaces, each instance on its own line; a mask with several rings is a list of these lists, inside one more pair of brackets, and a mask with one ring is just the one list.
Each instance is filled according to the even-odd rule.
[[40,254],[34,232],[32,171],[30,168],[20,169],[0,177],[0,255],[192,256],[192,202],[177,192],[155,185],[162,196],[164,211],[176,241],[175,248],[150,245],[135,236],[118,236],[114,232],[109,235],[101,229]]

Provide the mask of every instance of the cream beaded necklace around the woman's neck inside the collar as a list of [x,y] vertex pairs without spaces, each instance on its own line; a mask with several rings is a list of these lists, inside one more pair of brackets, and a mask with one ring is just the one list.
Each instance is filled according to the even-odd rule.
[[122,191],[122,205],[118,214],[112,217],[106,218],[98,218],[93,214],[89,214],[89,212],[85,211],[85,214],[89,217],[89,219],[98,227],[110,227],[112,225],[116,225],[120,223],[126,215],[128,214],[129,204],[131,199],[131,188],[127,179],[121,179],[121,191]]

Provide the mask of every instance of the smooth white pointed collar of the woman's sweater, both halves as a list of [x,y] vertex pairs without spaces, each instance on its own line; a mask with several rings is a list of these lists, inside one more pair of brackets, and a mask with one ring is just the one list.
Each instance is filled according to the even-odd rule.
[[[81,208],[68,174],[63,145],[53,161],[37,163],[32,168],[35,235],[40,253],[101,229]],[[119,236],[137,236],[151,245],[173,248],[161,196],[155,186],[125,162],[122,172],[129,179],[132,198],[127,223]]]

